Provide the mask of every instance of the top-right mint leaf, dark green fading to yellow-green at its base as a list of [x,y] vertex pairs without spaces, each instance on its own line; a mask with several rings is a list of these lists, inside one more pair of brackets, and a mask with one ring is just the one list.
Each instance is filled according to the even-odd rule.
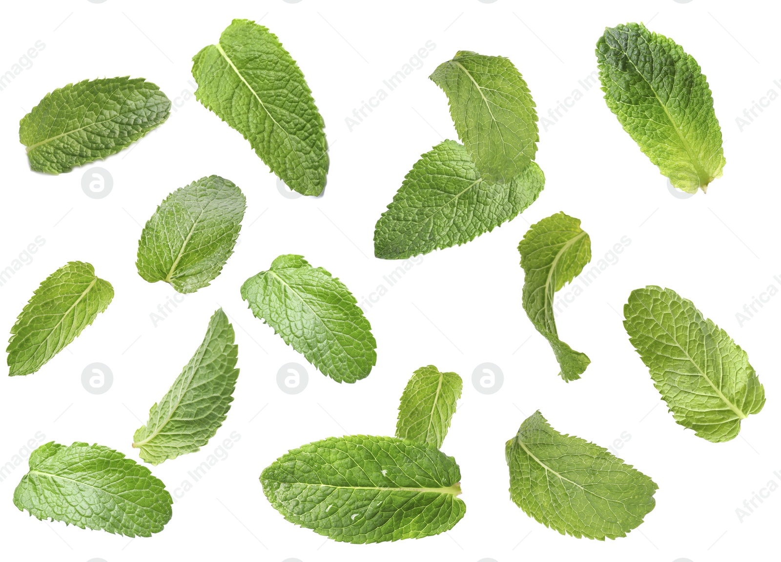
[[627,23],[604,30],[597,63],[608,107],[672,185],[704,192],[722,177],[722,130],[693,56],[642,23]]

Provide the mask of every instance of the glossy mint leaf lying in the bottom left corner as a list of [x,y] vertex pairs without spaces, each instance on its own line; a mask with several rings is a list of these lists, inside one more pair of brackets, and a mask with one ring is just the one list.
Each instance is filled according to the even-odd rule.
[[52,441],[30,455],[13,503],[41,521],[148,537],[170,520],[173,499],[147,467],[114,449]]

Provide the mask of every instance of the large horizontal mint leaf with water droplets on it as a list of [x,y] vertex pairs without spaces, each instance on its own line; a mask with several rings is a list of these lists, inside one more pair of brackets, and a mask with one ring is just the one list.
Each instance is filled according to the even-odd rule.
[[330,437],[293,449],[260,476],[287,521],[344,542],[420,539],[464,517],[452,456],[393,437]]

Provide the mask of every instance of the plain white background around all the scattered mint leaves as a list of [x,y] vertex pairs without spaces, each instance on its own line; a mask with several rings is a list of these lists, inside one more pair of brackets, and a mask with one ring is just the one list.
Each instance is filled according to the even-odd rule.
[[[152,538],[41,522],[12,503],[23,464],[0,481],[4,557],[30,560],[769,560],[781,491],[741,522],[736,508],[775,480],[781,393],[778,316],[769,299],[741,326],[736,313],[768,285],[781,287],[777,134],[781,102],[747,126],[736,117],[781,78],[769,2],[9,2],[3,8],[0,73],[43,41],[45,48],[0,91],[0,269],[37,236],[32,261],[0,287],[0,326],[16,315],[48,274],[69,260],[94,264],[116,296],[109,309],[39,372],[5,378],[0,388],[0,464],[35,439],[98,442],[138,460],[133,433],[201,342],[223,306],[236,328],[241,375],[226,423],[198,453],[153,473],[175,492],[188,471],[237,432],[240,439],[209,473],[179,495],[173,518]],[[191,97],[191,57],[215,43],[232,18],[261,21],[298,61],[326,122],[331,166],[323,197],[287,199],[241,134]],[[622,131],[598,88],[580,80],[596,70],[594,44],[605,26],[644,21],[697,58],[715,98],[724,136],[724,177],[690,199]],[[345,118],[423,48],[436,47],[357,127]],[[530,85],[540,117],[575,89],[582,98],[540,127],[537,162],[547,177],[521,217],[468,245],[416,260],[396,285],[383,276],[401,263],[373,257],[373,228],[423,152],[456,138],[444,93],[428,75],[458,50],[505,55]],[[25,63],[26,66],[27,63]],[[420,65],[417,65],[420,66]],[[59,176],[29,170],[20,118],[54,88],[96,77],[154,81],[176,108],[158,130],[104,162],[113,189],[91,199],[81,188],[90,164]],[[387,90],[387,88],[385,88]],[[155,325],[150,317],[176,293],[149,284],[135,268],[141,225],[175,188],[209,174],[239,185],[248,199],[240,243],[212,285],[187,295]],[[624,236],[631,243],[567,307],[558,327],[592,361],[566,384],[550,346],[521,306],[516,250],[530,224],[565,211],[590,234],[593,263]],[[363,305],[378,342],[369,378],[339,385],[252,317],[239,287],[282,253],[300,253],[340,277],[359,301],[379,285],[387,294]],[[574,285],[583,286],[581,279]],[[747,350],[767,404],[731,442],[698,439],[677,425],[651,385],[622,328],[633,288],[675,289]],[[565,288],[562,298],[572,287]],[[113,384],[93,395],[81,383],[89,363],[110,367]],[[304,364],[304,392],[276,383],[288,362]],[[477,392],[473,370],[495,363],[504,385]],[[466,515],[447,534],[356,546],[284,521],[262,494],[259,474],[287,449],[330,435],[392,435],[398,399],[417,367],[454,370],[464,392],[444,451],[462,470]],[[534,410],[562,432],[609,446],[659,485],[657,505],[626,538],[606,542],[559,535],[526,516],[508,496],[505,441]],[[621,435],[629,435],[622,440]],[[35,443],[37,446],[37,443]],[[22,450],[24,455],[27,453]],[[224,455],[221,455],[224,456]],[[781,474],[781,472],[779,472]]]

